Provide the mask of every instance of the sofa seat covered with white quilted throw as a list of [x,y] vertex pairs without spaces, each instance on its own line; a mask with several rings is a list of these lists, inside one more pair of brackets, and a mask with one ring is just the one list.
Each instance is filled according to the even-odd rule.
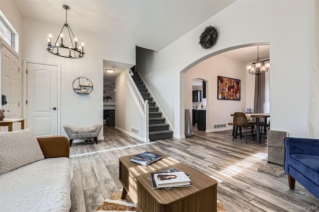
[[0,176],[1,212],[69,212],[72,162],[40,160]]

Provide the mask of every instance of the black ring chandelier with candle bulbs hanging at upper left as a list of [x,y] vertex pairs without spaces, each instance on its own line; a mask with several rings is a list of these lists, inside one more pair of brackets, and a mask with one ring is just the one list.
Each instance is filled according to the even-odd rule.
[[[60,33],[58,34],[55,43],[51,44],[52,34],[49,34],[47,45],[48,47],[46,48],[46,50],[48,50],[48,52],[50,52],[51,54],[60,57],[82,58],[84,56],[84,43],[81,44],[82,47],[79,45],[77,38],[74,36],[71,27],[68,24],[67,10],[70,9],[70,7],[68,5],[63,5],[63,8],[65,9],[65,22]],[[63,30],[66,31],[66,33],[64,33],[65,36],[62,33]],[[59,40],[61,43],[59,43]]]

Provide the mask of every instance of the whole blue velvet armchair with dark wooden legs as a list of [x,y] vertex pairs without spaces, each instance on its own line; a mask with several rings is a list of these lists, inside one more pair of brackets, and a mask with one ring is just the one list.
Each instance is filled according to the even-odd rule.
[[285,138],[285,172],[290,189],[296,180],[319,199],[319,139]]

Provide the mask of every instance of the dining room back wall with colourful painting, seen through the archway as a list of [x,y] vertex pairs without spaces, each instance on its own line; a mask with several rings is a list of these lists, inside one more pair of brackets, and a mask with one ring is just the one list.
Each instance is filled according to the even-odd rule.
[[[214,129],[214,124],[221,123],[226,123],[226,128],[222,130],[232,129],[232,126],[228,126],[228,123],[232,122],[230,114],[246,111],[246,75],[246,64],[218,55],[195,65],[185,73],[185,109],[191,111],[191,89],[189,87],[192,87],[192,79],[204,79],[207,81],[206,87],[208,88],[206,93],[206,132],[220,130]],[[217,100],[217,76],[241,80],[240,101]]]

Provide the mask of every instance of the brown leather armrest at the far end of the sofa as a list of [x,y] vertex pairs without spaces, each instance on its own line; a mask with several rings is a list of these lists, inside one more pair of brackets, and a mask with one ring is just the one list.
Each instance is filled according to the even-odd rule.
[[70,156],[70,143],[62,135],[37,137],[44,158],[58,158]]

